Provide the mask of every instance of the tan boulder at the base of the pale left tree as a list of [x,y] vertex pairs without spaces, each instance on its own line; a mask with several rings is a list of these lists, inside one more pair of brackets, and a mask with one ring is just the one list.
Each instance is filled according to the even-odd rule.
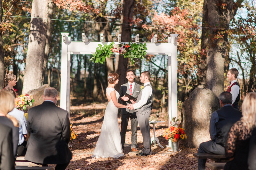
[[28,106],[26,110],[34,106],[37,106],[39,104],[42,104],[44,102],[44,98],[43,98],[44,89],[49,87],[50,86],[48,84],[44,84],[38,89],[29,90],[26,94],[31,95],[31,97],[35,100],[35,102],[33,103],[33,106]]

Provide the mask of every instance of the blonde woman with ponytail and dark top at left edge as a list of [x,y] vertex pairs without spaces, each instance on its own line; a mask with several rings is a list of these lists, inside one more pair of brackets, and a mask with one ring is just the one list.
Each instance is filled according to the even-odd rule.
[[16,158],[19,142],[19,123],[15,117],[7,115],[14,108],[14,99],[14,96],[10,92],[0,92],[0,123],[12,128],[13,156]]

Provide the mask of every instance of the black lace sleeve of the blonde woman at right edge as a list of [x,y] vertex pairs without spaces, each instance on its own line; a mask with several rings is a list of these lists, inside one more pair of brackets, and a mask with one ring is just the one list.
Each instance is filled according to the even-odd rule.
[[[244,120],[239,120],[230,128],[228,132],[227,145],[225,146],[226,157],[233,158],[237,150],[237,146],[243,147],[242,143],[246,143],[252,136],[253,128],[248,128],[244,124]],[[241,149],[241,148],[239,148]]]

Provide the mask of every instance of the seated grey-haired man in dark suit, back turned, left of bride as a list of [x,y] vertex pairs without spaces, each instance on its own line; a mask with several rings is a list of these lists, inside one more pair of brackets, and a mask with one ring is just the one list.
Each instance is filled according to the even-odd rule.
[[28,144],[25,159],[34,163],[57,164],[55,170],[64,170],[72,159],[68,149],[70,124],[68,111],[56,106],[57,90],[44,90],[44,102],[28,110]]

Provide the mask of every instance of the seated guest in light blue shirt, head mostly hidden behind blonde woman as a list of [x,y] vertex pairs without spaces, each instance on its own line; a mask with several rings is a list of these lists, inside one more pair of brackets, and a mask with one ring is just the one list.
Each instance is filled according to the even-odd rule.
[[[11,88],[5,88],[2,91],[9,91],[14,97],[16,97],[16,92]],[[27,141],[25,141],[25,139],[27,138],[28,133],[26,117],[23,111],[20,111],[16,108],[9,112],[8,115],[15,117],[19,122],[19,144],[17,148],[17,156],[24,156],[27,151]]]

